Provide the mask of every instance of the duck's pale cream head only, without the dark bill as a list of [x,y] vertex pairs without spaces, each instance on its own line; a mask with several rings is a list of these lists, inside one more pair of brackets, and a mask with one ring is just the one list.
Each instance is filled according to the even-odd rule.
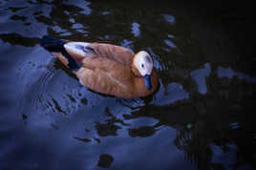
[[149,53],[145,51],[140,51],[136,53],[134,58],[134,65],[139,71],[139,74],[145,76],[146,74],[150,75],[153,70],[153,60]]

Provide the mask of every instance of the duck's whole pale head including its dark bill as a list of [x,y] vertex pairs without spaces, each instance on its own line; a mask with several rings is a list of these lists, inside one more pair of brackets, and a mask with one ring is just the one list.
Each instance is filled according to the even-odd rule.
[[137,69],[139,75],[143,76],[146,89],[151,90],[150,75],[153,70],[153,60],[150,54],[144,51],[136,53],[133,59],[133,66]]

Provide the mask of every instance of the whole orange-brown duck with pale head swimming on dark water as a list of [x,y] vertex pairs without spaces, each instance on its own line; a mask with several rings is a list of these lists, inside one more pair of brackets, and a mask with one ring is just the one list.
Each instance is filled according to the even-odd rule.
[[79,82],[99,94],[136,98],[153,94],[159,76],[149,53],[110,43],[78,42],[44,35],[39,42],[56,56]]

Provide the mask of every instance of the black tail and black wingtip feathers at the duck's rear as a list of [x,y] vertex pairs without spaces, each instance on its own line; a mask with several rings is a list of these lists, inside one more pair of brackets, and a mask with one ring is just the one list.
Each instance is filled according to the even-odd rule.
[[44,35],[40,40],[40,45],[51,53],[61,53],[67,60],[67,66],[71,71],[78,70],[81,66],[75,61],[75,59],[67,53],[64,48],[64,44],[67,42],[50,35]]

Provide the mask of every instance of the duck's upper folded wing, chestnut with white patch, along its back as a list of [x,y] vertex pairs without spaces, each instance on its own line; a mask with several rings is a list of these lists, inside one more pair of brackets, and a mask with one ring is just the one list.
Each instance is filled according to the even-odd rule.
[[64,48],[80,63],[82,60],[92,57],[106,57],[128,65],[131,64],[135,55],[126,48],[107,43],[68,42],[64,45]]

